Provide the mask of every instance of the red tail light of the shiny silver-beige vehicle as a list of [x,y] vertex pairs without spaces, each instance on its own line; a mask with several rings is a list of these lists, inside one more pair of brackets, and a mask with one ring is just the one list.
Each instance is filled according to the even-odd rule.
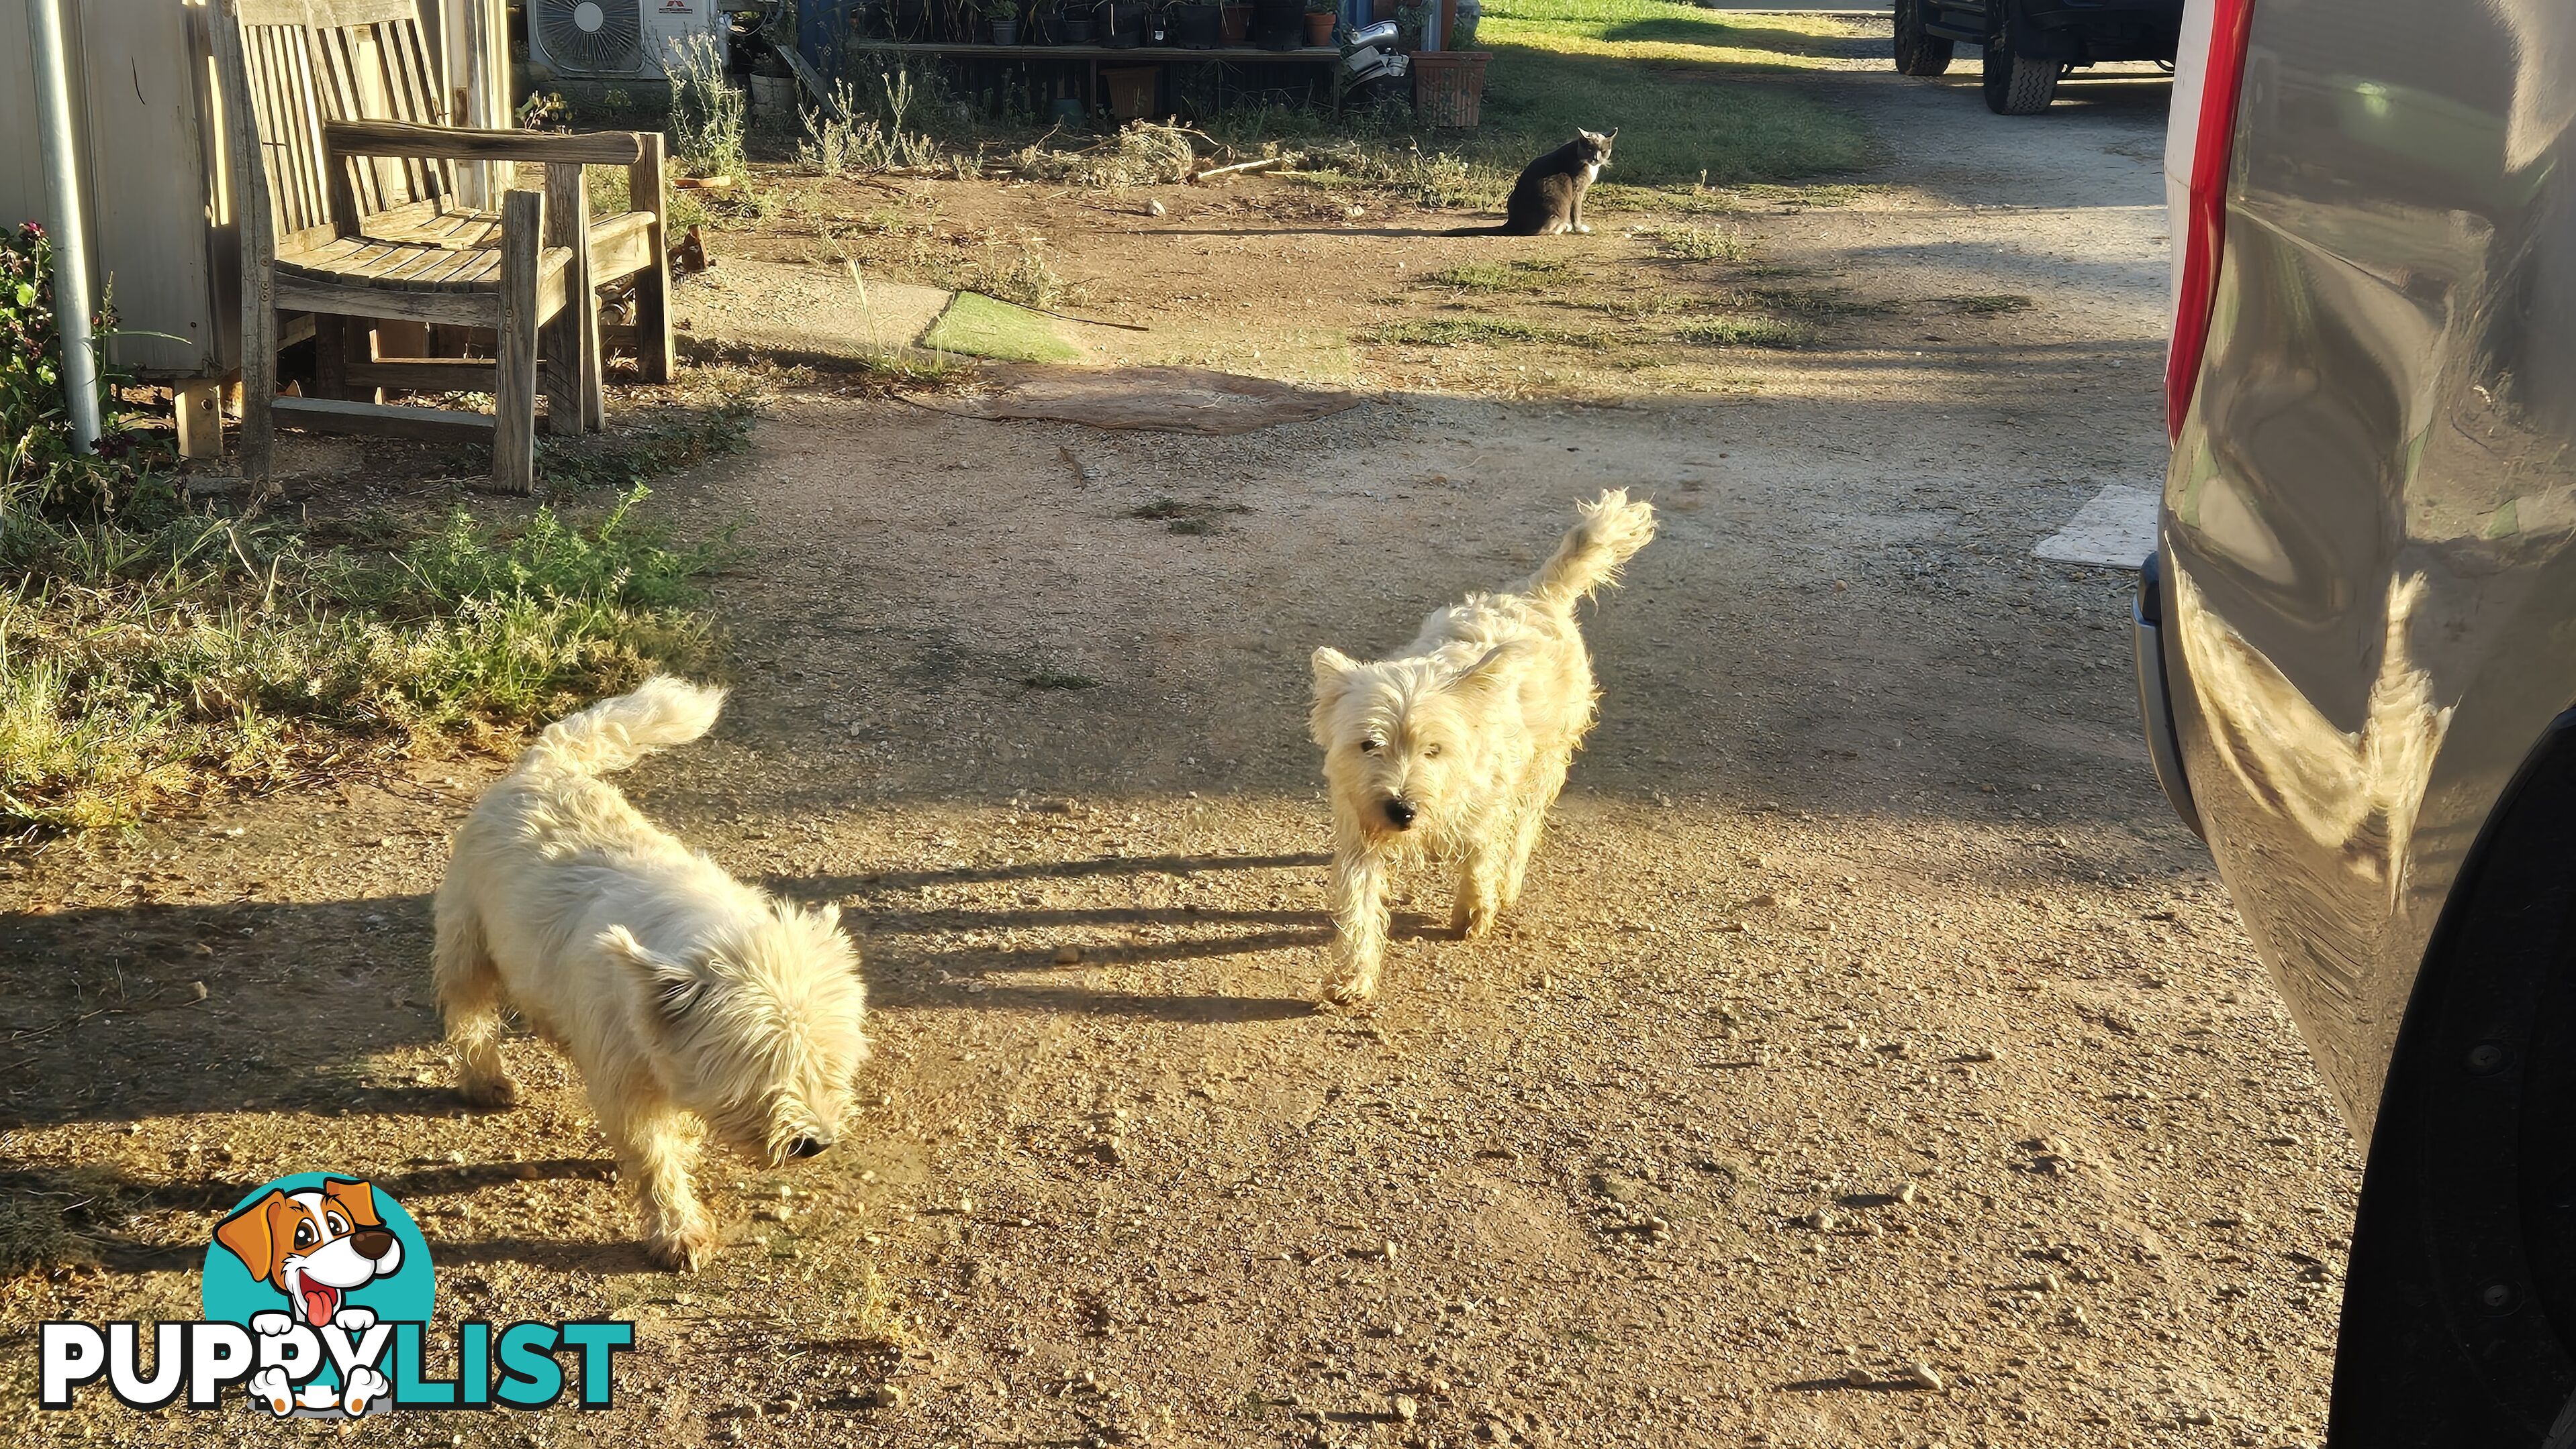
[[[2184,51],[2192,44],[2192,21],[2208,15],[2208,64],[2197,67],[2200,106],[2177,111],[2166,131],[2166,178],[2182,183],[2174,198],[2174,245],[2179,268],[2174,275],[2174,345],[2164,355],[2164,430],[2182,438],[2182,417],[2192,412],[2192,389],[2200,386],[2200,353],[2210,340],[2210,304],[2218,296],[2218,255],[2228,232],[2228,162],[2236,147],[2236,98],[2246,75],[2246,33],[2254,26],[2254,0],[2202,0],[2184,10]],[[2182,88],[2177,106],[2187,100]],[[2190,144],[2179,157],[2177,142]]]

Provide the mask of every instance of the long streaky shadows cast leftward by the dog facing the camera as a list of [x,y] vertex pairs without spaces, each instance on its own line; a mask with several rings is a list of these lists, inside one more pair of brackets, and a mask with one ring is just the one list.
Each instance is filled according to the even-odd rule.
[[[992,885],[1007,880],[1082,880],[1100,875],[1180,875],[1206,878],[1234,870],[1314,870],[1332,865],[1324,852],[1301,854],[1113,854],[1090,860],[1030,860],[956,870],[801,875],[770,878],[770,891],[806,901],[860,898],[853,927],[868,932],[868,981],[876,1004],[969,1006],[994,1011],[1079,1011],[1095,1017],[1141,1017],[1159,1022],[1278,1022],[1311,1014],[1311,996],[1229,996],[1221,991],[1144,993],[1103,991],[1074,983],[1030,981],[1051,970],[1087,970],[1141,963],[1226,963],[1278,950],[1321,952],[1332,945],[1332,916],[1324,911],[1226,909],[1226,906],[1028,906],[1028,909],[907,909],[904,896],[933,885]],[[1182,939],[1118,945],[1077,945],[1077,960],[1059,955],[1061,945],[1023,950],[922,947],[912,942],[953,939],[969,932],[1066,932],[1092,939],[1100,929],[1136,927],[1255,927],[1234,934],[1193,934]],[[1396,911],[1394,939],[1445,939],[1430,916]],[[1321,978],[1319,978],[1321,981]]]

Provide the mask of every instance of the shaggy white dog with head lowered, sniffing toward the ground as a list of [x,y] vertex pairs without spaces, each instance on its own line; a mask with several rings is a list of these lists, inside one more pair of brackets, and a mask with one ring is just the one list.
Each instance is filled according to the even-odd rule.
[[438,885],[438,1006],[469,1102],[515,1099],[500,1011],[556,1042],[634,1184],[652,1253],[716,1246],[690,1171],[701,1122],[762,1163],[832,1145],[868,1058],[840,914],[737,883],[600,775],[706,734],[724,690],[654,677],[556,721],[484,793]]

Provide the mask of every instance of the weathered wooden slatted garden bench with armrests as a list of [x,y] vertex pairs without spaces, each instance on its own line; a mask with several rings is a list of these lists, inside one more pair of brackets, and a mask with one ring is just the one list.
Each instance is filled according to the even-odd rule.
[[[242,471],[270,430],[492,445],[536,486],[536,394],[554,432],[598,430],[598,286],[636,278],[636,353],[667,381],[662,136],[446,124],[412,0],[219,0],[216,85],[242,237]],[[544,190],[459,203],[459,162],[536,162]],[[626,167],[629,211],[592,221],[585,165]],[[314,319],[314,396],[276,396],[278,314]],[[489,332],[489,358],[389,358],[389,324]],[[420,335],[420,327],[407,332]],[[386,407],[381,389],[487,391],[492,414]]]

